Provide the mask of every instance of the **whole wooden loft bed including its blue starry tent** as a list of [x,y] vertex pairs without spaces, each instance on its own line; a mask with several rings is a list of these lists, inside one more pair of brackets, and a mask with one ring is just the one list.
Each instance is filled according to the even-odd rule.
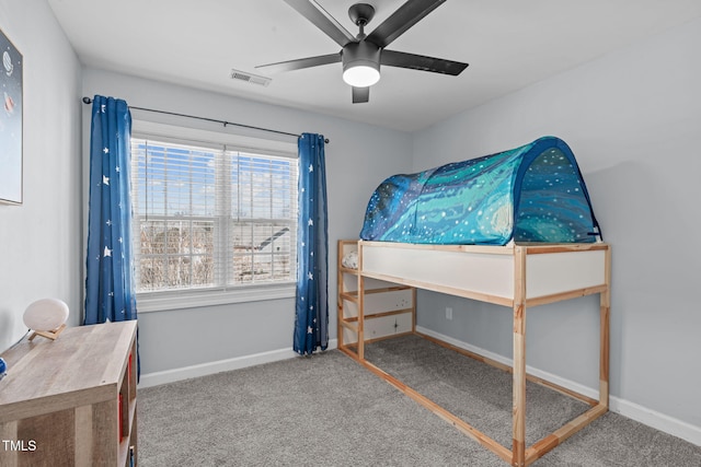
[[[510,165],[504,168],[499,161],[506,161]],[[496,171],[497,174],[473,171],[475,164],[481,168]],[[556,172],[554,176],[553,172]],[[464,177],[466,174],[472,178]],[[567,175],[573,179],[565,180],[564,184],[547,183],[547,187],[542,188],[541,182],[566,178]],[[432,187],[427,186],[434,176],[441,179],[444,185],[432,191]],[[478,183],[474,182],[475,177]],[[489,183],[484,183],[485,179]],[[449,180],[448,187],[445,180]],[[480,184],[480,180],[483,183]],[[418,186],[412,186],[413,183]],[[461,191],[459,187],[464,186],[487,187],[489,192]],[[552,191],[553,186],[555,195],[548,191]],[[495,191],[499,190],[502,192],[495,196]],[[445,196],[446,191],[450,196]],[[456,197],[456,192],[459,196]],[[572,195],[570,199],[563,199],[567,195]],[[550,209],[541,209],[548,203],[552,205],[553,199],[560,206],[566,206],[561,214],[552,206]],[[498,206],[494,206],[495,200]],[[475,209],[468,209],[470,207]],[[435,214],[436,209],[440,215]],[[459,218],[446,214],[456,211],[460,211]],[[533,219],[538,218],[539,211],[544,215]],[[485,212],[507,212],[509,215],[506,220],[498,214],[493,214],[491,220],[472,219],[469,217],[471,212],[481,212],[481,215]],[[447,222],[443,222],[445,218],[449,218]],[[463,223],[466,219],[468,222]],[[498,222],[494,222],[495,219]],[[524,222],[519,223],[519,219]],[[571,224],[573,219],[579,219],[581,225]],[[425,222],[422,224],[420,220]],[[482,221],[482,224],[478,223],[481,226],[476,229],[476,234],[472,229],[475,222],[472,221]],[[551,229],[563,223],[570,229]],[[469,230],[456,231],[461,229],[461,224],[472,225]],[[491,226],[494,229],[490,230]],[[426,232],[429,235],[423,235]],[[464,242],[464,237],[469,235],[483,237],[470,238],[466,242],[470,244],[459,243]],[[446,244],[446,238],[462,240]],[[516,150],[467,161],[460,166],[449,164],[422,174],[391,177],[380,185],[370,199],[361,240],[338,242],[338,348],[505,462],[513,466],[527,466],[608,411],[610,264],[611,248],[601,241],[574,155],[556,138],[543,138]],[[365,359],[367,342],[395,335],[417,334],[416,289],[513,310],[514,347],[510,367],[429,338],[436,343],[513,373],[510,447],[499,444]],[[387,294],[391,297],[384,301],[389,307],[383,311],[382,302],[377,297]],[[398,294],[404,295],[400,297]],[[598,399],[526,372],[527,308],[591,294],[600,296]],[[370,307],[374,310],[369,310]],[[400,324],[402,317],[403,326]],[[369,327],[376,322],[386,324],[375,326],[372,335],[368,335]],[[590,408],[527,446],[527,380],[583,400]]]

